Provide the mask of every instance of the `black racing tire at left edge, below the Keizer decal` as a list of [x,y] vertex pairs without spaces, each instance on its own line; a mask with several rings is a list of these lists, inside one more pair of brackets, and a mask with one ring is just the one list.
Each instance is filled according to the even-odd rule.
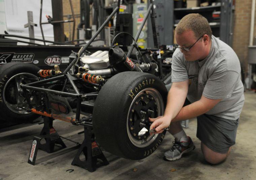
[[[18,93],[14,90],[17,84],[33,82],[31,79],[36,79],[39,70],[39,67],[24,62],[9,62],[0,66],[0,116],[3,120],[23,123],[39,117],[37,114],[16,107],[19,104],[16,96]],[[19,95],[18,99],[26,106],[27,101],[24,96]]]

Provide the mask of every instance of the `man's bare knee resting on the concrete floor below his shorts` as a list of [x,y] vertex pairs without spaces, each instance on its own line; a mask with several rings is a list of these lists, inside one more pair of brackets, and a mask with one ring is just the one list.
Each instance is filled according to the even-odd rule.
[[223,153],[218,153],[213,151],[212,149],[208,148],[205,144],[201,142],[201,149],[202,149],[205,161],[215,165],[223,162],[227,158],[227,156],[230,153],[231,147],[229,148],[229,151],[227,153],[223,154]]

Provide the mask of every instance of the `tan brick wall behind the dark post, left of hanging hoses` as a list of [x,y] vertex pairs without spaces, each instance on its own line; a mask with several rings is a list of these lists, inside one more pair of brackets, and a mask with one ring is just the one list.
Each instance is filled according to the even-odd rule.
[[[80,0],[71,0],[74,14],[80,15]],[[72,14],[69,0],[62,0],[63,4],[63,20],[68,20],[67,16],[68,14]],[[71,17],[72,19],[72,17]],[[80,23],[80,17],[75,18],[75,36],[74,39],[77,39],[77,25]],[[68,37],[69,40],[72,39],[72,33],[73,33],[73,23],[64,23],[64,33]]]

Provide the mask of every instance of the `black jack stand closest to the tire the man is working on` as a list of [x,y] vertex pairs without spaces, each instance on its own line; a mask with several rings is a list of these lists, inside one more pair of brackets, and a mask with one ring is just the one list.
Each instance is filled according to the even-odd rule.
[[[71,165],[77,165],[90,172],[94,172],[96,170],[97,159],[102,160],[102,165],[108,165],[109,163],[95,142],[94,134],[92,134],[92,128],[85,126],[84,129],[85,139],[78,149]],[[85,155],[85,161],[81,161],[79,158],[82,152]]]

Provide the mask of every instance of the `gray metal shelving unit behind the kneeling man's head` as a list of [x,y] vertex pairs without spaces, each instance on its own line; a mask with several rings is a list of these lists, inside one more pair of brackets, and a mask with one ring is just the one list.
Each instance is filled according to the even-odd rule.
[[[217,1],[216,1],[217,2]],[[173,44],[173,30],[178,25],[176,20],[181,19],[189,13],[199,13],[203,15],[212,28],[213,35],[232,47],[233,41],[233,0],[221,0],[221,3],[214,6],[174,8],[174,0],[155,0],[155,10],[157,13],[160,43],[165,45]],[[220,11],[220,19],[214,19],[212,12]],[[150,26],[150,21],[148,22]],[[153,45],[152,31],[148,30],[148,46]]]

